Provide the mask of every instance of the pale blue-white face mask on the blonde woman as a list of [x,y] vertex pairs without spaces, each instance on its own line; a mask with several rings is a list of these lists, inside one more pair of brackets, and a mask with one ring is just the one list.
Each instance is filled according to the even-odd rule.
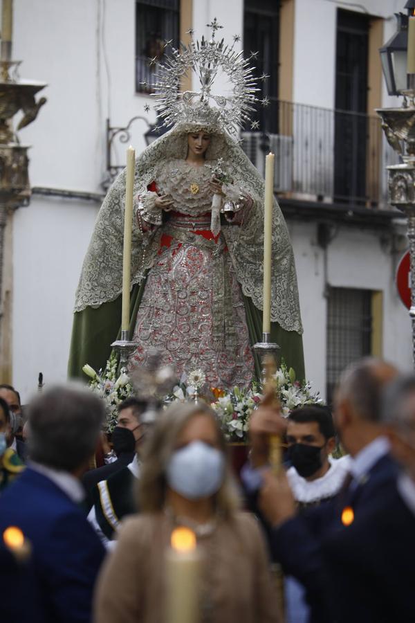
[[223,482],[223,452],[201,441],[176,450],[166,469],[169,487],[189,500],[208,498]]

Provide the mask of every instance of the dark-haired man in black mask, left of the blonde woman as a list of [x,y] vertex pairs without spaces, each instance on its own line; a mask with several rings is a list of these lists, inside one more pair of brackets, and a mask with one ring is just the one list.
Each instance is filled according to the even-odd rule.
[[113,430],[112,442],[113,451],[116,453],[116,460],[91,469],[82,476],[82,483],[87,494],[87,506],[93,505],[93,489],[98,482],[107,480],[120,469],[127,467],[131,463],[138,451],[138,446],[144,436],[144,424],[141,422],[142,413],[147,408],[147,402],[137,398],[127,398],[118,406],[118,422]]

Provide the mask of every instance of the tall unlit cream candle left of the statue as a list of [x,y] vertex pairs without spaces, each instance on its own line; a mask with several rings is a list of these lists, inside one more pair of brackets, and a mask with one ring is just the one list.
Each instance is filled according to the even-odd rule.
[[122,258],[122,314],[121,329],[129,329],[129,303],[131,287],[131,233],[133,228],[133,188],[134,165],[136,152],[131,145],[127,150],[127,180],[125,184],[125,212],[124,212],[124,254]]

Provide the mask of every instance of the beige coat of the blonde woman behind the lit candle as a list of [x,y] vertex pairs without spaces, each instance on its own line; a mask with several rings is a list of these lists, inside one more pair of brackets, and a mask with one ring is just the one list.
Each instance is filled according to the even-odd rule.
[[[165,515],[127,519],[95,593],[95,623],[165,623],[164,557],[172,532]],[[259,525],[248,513],[222,520],[198,539],[207,623],[276,623],[277,597]],[[207,604],[205,604],[207,605]]]

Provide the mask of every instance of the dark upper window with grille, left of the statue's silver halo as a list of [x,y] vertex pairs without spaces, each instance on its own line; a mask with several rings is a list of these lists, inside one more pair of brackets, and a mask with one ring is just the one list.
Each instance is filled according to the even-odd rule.
[[[151,93],[158,63],[178,47],[180,0],[136,2],[136,92]],[[151,61],[152,59],[152,61]]]

